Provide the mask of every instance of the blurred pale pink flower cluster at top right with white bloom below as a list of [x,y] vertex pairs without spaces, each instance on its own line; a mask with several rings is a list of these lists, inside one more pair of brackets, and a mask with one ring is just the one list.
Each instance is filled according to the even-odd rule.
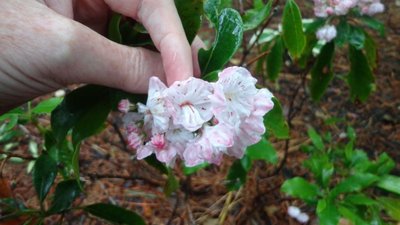
[[[343,16],[351,10],[357,10],[361,15],[373,16],[385,10],[380,0],[314,0],[314,14],[320,18]],[[317,38],[330,42],[336,37],[336,27],[325,25],[317,31]]]

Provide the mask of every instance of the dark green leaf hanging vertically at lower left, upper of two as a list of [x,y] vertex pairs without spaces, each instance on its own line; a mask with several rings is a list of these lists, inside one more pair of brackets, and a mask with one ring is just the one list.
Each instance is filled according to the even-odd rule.
[[33,186],[40,202],[46,198],[57,176],[57,163],[47,154],[42,154],[33,169]]

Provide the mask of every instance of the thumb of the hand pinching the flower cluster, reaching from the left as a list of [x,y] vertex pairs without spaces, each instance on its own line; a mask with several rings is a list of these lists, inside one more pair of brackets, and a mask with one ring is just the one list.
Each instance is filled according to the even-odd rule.
[[151,76],[165,82],[158,53],[117,44],[79,23],[74,23],[74,34],[64,68],[69,79],[66,83],[90,83],[147,93]]

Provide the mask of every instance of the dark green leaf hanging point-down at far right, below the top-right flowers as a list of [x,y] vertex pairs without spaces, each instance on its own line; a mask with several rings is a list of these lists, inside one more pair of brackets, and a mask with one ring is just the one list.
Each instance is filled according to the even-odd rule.
[[350,85],[350,96],[353,100],[357,98],[364,102],[375,89],[374,77],[361,50],[349,46],[349,56],[351,66],[347,81]]

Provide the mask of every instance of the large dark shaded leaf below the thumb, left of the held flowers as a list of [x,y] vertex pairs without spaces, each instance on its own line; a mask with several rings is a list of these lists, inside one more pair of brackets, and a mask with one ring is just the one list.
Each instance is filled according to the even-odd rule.
[[[79,126],[85,126],[84,123],[88,123],[88,128],[98,128],[98,119],[104,117],[106,106],[109,106],[109,88],[96,86],[96,85],[86,85],[84,87],[78,88],[68,95],[65,96],[62,103],[51,113],[51,128],[54,132],[54,136],[57,141],[62,141],[67,135],[68,131],[74,128],[77,124]],[[102,105],[102,106],[101,106]],[[102,110],[98,112],[100,115],[95,115],[93,108],[98,108]],[[93,114],[94,113],[94,114]],[[92,118],[95,119],[94,124]],[[83,121],[82,118],[87,121]],[[104,118],[105,119],[105,118]],[[101,123],[102,125],[102,123]],[[85,128],[83,128],[85,129]],[[75,140],[83,138],[84,136],[93,134],[96,131],[89,130],[81,132],[80,128],[78,136]]]

